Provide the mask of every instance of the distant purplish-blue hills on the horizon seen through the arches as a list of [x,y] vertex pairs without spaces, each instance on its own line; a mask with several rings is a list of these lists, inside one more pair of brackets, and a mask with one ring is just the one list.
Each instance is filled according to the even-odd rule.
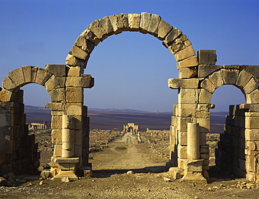
[[[25,105],[27,122],[43,123],[50,125],[50,109]],[[225,115],[228,112],[211,112],[211,132],[223,132]],[[134,109],[88,109],[90,116],[90,128],[123,130],[123,125],[136,123],[140,130],[169,130],[172,112],[148,112]]]

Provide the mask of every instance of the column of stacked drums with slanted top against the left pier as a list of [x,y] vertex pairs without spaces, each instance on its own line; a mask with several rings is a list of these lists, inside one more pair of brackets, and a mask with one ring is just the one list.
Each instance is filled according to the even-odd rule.
[[62,115],[62,158],[72,158],[74,151],[73,120],[68,115]]

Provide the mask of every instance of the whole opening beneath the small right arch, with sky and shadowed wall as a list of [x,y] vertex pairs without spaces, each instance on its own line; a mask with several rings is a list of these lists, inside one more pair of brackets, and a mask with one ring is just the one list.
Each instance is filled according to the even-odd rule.
[[[245,115],[244,109],[239,109],[240,104],[246,103],[244,94],[235,85],[223,85],[216,89],[211,97],[211,103],[215,104],[215,109],[210,111],[211,129],[207,133],[210,177],[216,177],[215,168],[211,167],[216,165],[217,169],[229,172],[233,177],[244,178],[246,177]],[[220,103],[221,107],[217,108],[217,104]]]

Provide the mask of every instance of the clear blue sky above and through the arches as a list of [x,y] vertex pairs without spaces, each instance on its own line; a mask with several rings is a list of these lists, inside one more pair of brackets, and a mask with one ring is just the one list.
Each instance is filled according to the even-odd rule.
[[[259,1],[0,1],[0,81],[23,65],[44,68],[64,64],[78,35],[94,20],[118,13],[155,13],[180,29],[195,51],[216,50],[217,64],[259,65]],[[91,54],[85,74],[95,78],[85,89],[90,108],[172,111],[177,91],[176,61],[162,42],[149,34],[109,36]],[[41,85],[25,85],[25,104],[45,106],[50,97]],[[216,90],[212,103],[245,103],[234,86]]]

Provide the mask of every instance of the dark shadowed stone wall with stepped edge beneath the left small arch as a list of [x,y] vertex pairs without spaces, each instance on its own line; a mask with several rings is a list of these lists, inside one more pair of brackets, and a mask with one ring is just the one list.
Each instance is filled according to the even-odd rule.
[[39,166],[38,144],[25,124],[22,90],[15,98],[16,102],[0,102],[0,174],[33,172]]

